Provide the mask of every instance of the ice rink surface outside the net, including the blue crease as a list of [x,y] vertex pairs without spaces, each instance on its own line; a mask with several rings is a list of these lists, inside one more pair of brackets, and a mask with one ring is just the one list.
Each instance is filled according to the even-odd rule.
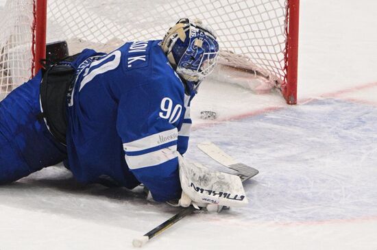
[[[224,170],[196,148],[211,140],[258,168],[250,204],[184,218],[145,249],[377,249],[377,3],[300,9],[298,105],[213,81],[193,102],[187,157]],[[132,249],[177,211],[52,166],[1,186],[0,249]]]

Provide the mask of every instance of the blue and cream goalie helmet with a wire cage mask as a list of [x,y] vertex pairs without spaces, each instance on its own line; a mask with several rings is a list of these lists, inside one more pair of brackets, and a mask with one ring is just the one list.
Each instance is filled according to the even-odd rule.
[[189,18],[181,18],[169,29],[161,47],[171,66],[189,82],[201,82],[213,71],[219,57],[219,43],[212,29]]

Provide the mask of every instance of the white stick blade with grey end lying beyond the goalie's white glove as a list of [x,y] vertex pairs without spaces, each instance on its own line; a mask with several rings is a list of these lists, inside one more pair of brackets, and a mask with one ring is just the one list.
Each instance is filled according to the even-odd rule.
[[238,162],[212,142],[202,142],[199,143],[197,147],[210,158],[219,162],[219,164],[236,171],[242,182],[245,182],[247,179],[250,179],[259,173],[256,168]]

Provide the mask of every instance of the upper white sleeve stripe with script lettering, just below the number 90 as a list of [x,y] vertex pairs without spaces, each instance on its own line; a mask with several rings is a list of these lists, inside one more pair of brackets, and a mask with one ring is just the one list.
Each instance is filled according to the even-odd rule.
[[178,139],[178,129],[173,128],[164,132],[157,134],[152,134],[151,136],[146,136],[132,142],[123,143],[123,149],[127,152],[142,151],[145,149],[151,149],[152,147],[157,147],[164,145],[169,142],[173,142]]

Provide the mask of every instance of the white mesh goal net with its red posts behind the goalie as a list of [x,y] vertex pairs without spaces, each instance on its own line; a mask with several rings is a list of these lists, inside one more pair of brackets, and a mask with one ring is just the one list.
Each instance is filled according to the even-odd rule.
[[294,104],[298,1],[8,0],[0,10],[0,99],[38,70],[45,40],[66,40],[71,54],[85,47],[111,51],[125,41],[161,39],[189,17],[217,33],[220,65],[262,77]]

